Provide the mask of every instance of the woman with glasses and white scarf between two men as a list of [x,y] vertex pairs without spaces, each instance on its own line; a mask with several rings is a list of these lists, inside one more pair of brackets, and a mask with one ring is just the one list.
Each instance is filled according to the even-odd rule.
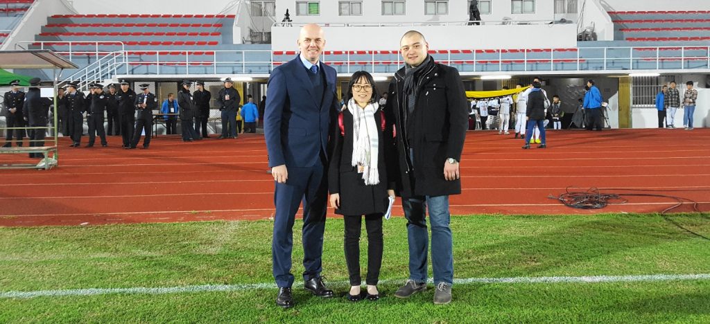
[[[374,80],[368,72],[355,72],[338,116],[335,147],[329,166],[330,205],[343,215],[345,260],[350,274],[349,301],[380,298],[377,283],[382,264],[382,218],[388,196],[395,196],[387,181],[385,150],[392,145],[392,127],[377,104]],[[389,164],[393,165],[393,164]],[[367,230],[367,291],[361,292],[360,233],[362,218]]]

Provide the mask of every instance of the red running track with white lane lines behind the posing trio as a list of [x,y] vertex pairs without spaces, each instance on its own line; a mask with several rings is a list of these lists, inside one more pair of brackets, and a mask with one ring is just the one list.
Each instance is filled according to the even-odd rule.
[[[452,213],[655,213],[674,203],[630,197],[626,204],[590,211],[548,198],[567,186],[660,190],[710,211],[710,129],[557,130],[548,138],[546,150],[522,150],[523,141],[512,135],[469,132],[461,158],[464,190],[452,196]],[[109,147],[72,148],[62,140],[58,168],[1,170],[0,225],[273,217],[262,135],[193,143],[160,136],[150,150],[121,150],[119,143],[114,137]],[[27,159],[0,156],[0,163],[20,160]],[[400,206],[394,213],[403,214]]]

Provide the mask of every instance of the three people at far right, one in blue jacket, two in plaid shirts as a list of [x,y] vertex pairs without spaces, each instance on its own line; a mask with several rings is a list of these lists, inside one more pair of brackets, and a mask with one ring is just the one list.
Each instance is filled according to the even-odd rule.
[[[680,100],[680,91],[676,88],[674,81],[668,86],[662,86],[661,91],[656,95],[656,109],[658,111],[658,128],[675,128],[675,113],[679,108],[683,108],[683,128],[693,129],[693,115],[695,104],[698,99],[698,91],[693,89],[693,82],[685,83],[686,90],[683,100]],[[665,121],[665,123],[664,123]]]

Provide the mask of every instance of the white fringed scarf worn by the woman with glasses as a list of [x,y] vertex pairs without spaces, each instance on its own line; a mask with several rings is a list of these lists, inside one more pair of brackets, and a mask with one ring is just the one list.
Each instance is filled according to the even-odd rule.
[[380,183],[380,174],[377,169],[379,138],[377,135],[377,122],[373,104],[368,104],[364,109],[358,106],[355,99],[348,101],[348,108],[353,115],[353,157],[351,165],[363,167],[362,179],[365,184]]

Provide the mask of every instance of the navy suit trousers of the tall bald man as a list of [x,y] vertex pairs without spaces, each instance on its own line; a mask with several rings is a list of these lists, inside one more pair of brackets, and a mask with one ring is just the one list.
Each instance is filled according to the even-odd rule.
[[293,223],[303,201],[303,280],[317,278],[322,271],[323,232],[327,210],[328,186],[322,161],[313,167],[288,167],[285,184],[275,183],[276,213],[273,223],[271,257],[273,277],[280,288],[293,285],[291,252]]

